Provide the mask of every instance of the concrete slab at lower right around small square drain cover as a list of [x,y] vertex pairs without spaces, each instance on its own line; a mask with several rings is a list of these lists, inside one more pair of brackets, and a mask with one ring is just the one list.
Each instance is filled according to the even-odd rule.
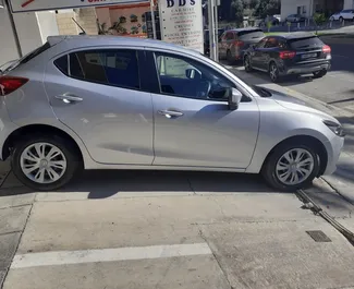
[[[203,226],[231,288],[352,288],[354,249],[318,220]],[[315,242],[321,230],[331,242]]]

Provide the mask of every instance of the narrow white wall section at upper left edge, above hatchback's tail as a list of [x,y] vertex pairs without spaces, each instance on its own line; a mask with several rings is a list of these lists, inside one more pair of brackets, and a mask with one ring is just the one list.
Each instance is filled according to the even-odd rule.
[[[0,9],[0,65],[19,58],[16,43],[12,34],[8,11]],[[5,45],[4,45],[5,44]]]

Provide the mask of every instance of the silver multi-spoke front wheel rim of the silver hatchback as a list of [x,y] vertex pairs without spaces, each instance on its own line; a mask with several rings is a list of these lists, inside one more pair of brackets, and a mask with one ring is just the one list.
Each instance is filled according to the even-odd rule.
[[307,180],[315,166],[313,155],[304,148],[293,148],[283,154],[276,166],[276,174],[285,185],[296,185]]

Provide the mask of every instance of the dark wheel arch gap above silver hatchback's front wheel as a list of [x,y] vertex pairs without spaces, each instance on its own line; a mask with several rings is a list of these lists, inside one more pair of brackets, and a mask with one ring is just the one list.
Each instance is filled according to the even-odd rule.
[[301,143],[301,144],[307,144],[310,146],[315,146],[316,150],[318,152],[319,157],[319,173],[317,177],[322,176],[326,171],[327,165],[328,165],[328,153],[327,149],[321,141],[318,139],[310,136],[310,135],[294,135],[290,136],[281,142],[279,142],[268,153],[267,157],[265,158],[261,170],[264,169],[265,165],[267,164],[269,157],[276,152],[276,149],[283,144],[288,143]]

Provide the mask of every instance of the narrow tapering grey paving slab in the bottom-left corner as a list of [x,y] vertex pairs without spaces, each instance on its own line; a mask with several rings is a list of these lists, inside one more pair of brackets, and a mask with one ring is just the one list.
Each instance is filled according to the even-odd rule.
[[21,232],[0,236],[0,288],[20,242]]

